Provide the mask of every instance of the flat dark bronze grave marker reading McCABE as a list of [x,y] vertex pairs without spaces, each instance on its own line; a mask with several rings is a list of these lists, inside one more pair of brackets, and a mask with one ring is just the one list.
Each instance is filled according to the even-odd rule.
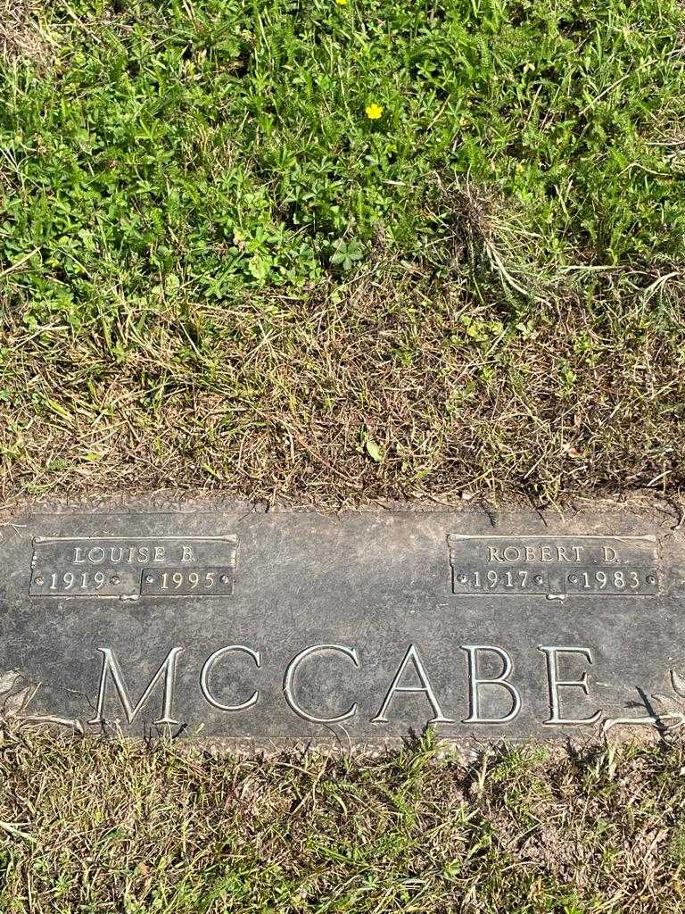
[[83,733],[259,746],[663,728],[685,699],[667,511],[58,508],[0,540],[0,700]]

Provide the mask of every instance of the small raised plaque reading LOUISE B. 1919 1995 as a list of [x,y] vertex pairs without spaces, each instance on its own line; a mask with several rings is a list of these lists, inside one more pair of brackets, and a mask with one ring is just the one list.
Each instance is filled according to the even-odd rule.
[[36,537],[32,597],[223,597],[237,537]]

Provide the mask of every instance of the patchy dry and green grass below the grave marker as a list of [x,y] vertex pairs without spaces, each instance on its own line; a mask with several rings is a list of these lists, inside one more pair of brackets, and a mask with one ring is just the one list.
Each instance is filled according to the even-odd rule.
[[230,758],[5,724],[5,914],[676,914],[683,749]]

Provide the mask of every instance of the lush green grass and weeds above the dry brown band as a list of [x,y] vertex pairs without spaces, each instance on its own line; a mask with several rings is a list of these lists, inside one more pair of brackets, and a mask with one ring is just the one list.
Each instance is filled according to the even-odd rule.
[[160,285],[218,301],[298,289],[364,262],[378,236],[447,277],[450,189],[467,175],[506,201],[532,264],[683,259],[676,3],[46,15],[55,59],[5,72],[0,120],[5,257],[37,250],[12,281],[30,325],[79,329],[122,301],[154,313]]

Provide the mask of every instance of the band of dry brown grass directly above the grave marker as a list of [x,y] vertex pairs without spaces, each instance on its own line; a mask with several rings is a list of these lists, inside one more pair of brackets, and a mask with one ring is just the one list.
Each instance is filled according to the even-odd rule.
[[677,493],[685,281],[655,277],[629,310],[612,306],[629,275],[597,282],[601,311],[569,282],[566,298],[518,319],[458,282],[428,295],[386,268],[295,299],[161,298],[156,313],[96,314],[78,330],[26,330],[8,307],[2,498]]

